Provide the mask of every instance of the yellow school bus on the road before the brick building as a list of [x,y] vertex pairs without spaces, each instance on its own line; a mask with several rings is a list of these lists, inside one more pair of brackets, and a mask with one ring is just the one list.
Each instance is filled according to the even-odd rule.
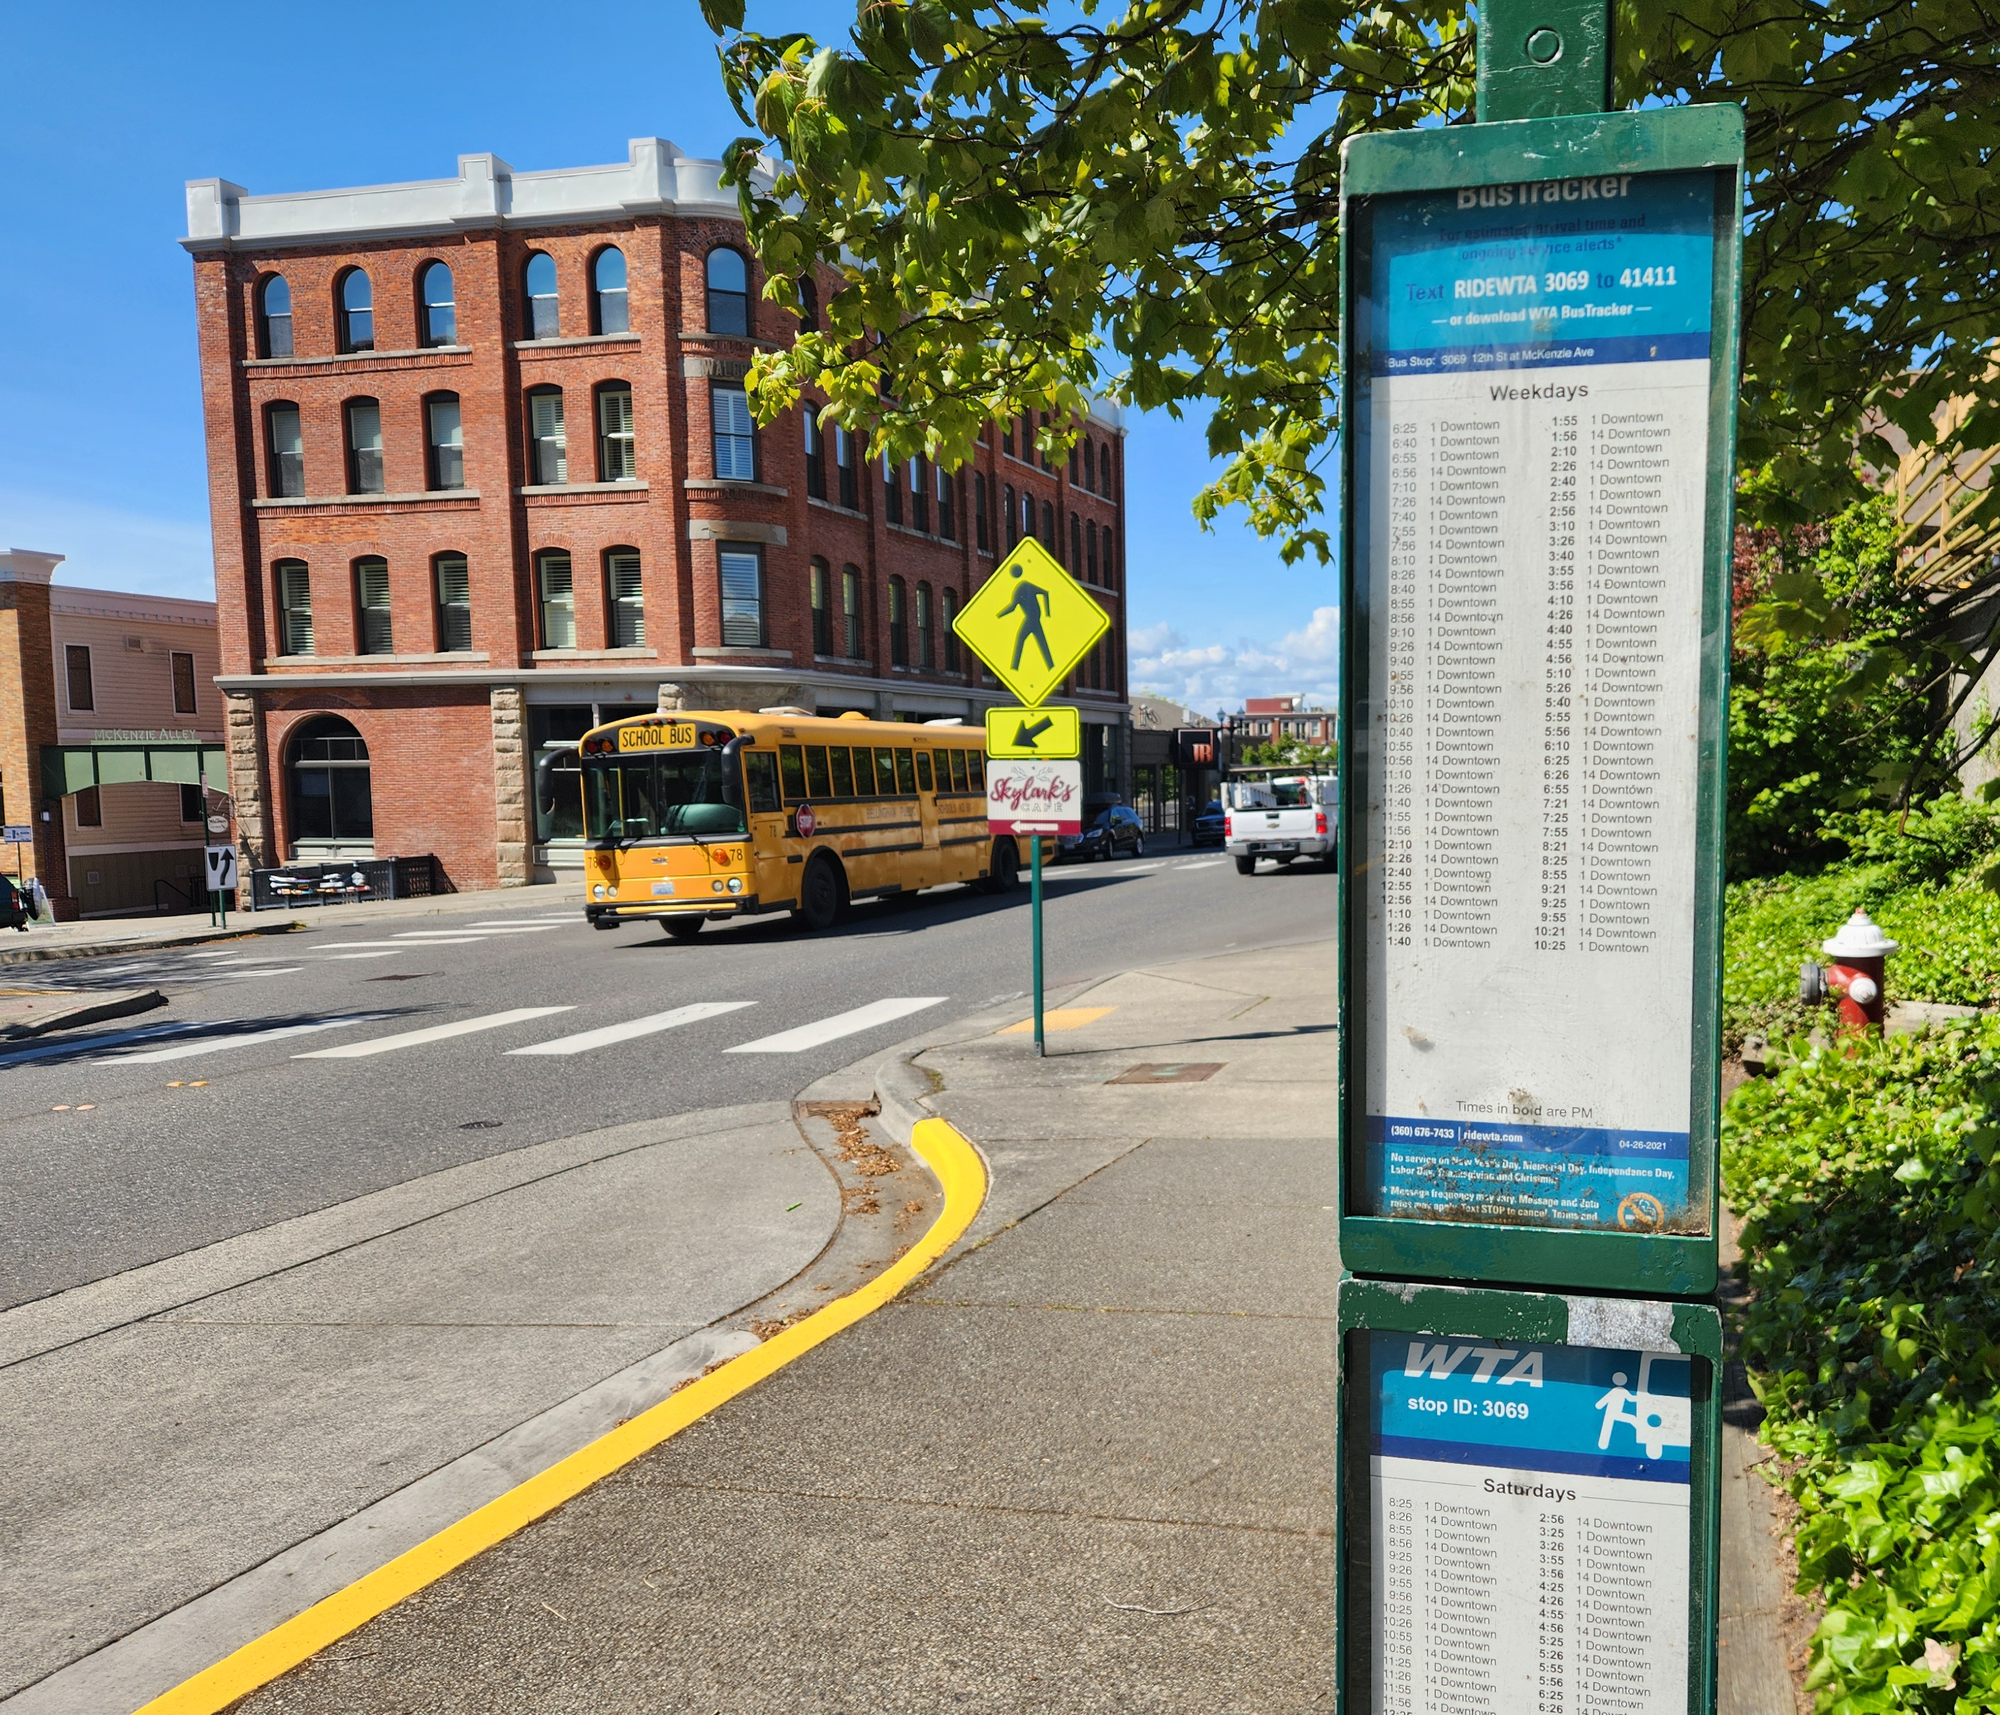
[[798,710],[672,712],[592,728],[584,913],[598,929],[790,911],[808,929],[854,899],[946,881],[1014,887],[1020,854],[986,832],[986,734]]

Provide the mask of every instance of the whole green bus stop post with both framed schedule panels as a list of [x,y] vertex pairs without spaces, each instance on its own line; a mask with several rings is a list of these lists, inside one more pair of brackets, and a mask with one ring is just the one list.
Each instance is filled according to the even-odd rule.
[[1706,1715],[1742,114],[1478,52],[1342,154],[1340,1703]]

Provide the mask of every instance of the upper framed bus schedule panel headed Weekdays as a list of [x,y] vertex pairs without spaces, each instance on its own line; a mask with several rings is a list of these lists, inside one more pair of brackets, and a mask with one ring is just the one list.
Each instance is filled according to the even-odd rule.
[[1344,1213],[1488,1235],[1342,1255],[1706,1291],[1736,158],[1354,196],[1354,154]]

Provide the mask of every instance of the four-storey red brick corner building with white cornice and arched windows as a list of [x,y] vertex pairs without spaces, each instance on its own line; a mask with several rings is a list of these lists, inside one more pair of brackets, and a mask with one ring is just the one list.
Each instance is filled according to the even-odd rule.
[[1020,534],[1110,610],[1086,768],[1124,786],[1124,432],[958,472],[750,424],[762,298],[716,162],[250,196],[188,184],[230,788],[258,863],[436,854],[460,887],[578,863],[552,784],[664,706],[978,720],[950,620]]

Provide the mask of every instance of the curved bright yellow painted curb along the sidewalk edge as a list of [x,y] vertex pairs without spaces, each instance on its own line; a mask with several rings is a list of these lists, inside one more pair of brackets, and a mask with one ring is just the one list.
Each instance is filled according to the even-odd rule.
[[796,1357],[804,1357],[820,1341],[832,1339],[864,1315],[878,1311],[926,1267],[942,1257],[972,1225],[986,1201],[986,1167],[978,1151],[944,1119],[920,1119],[910,1135],[916,1153],[924,1157],[944,1187],[944,1209],[902,1257],[882,1269],[868,1285],[822,1305],[804,1321],[792,1323],[766,1339],[756,1351],[746,1351],[722,1365],[714,1375],[690,1381],[678,1393],[662,1399],[630,1423],[600,1435],[588,1447],[578,1447],[526,1483],[508,1489],[454,1525],[414,1549],[396,1555],[388,1565],[358,1577],[346,1589],[316,1601],[304,1613],[252,1639],[232,1655],[222,1657],[172,1691],[162,1691],[136,1715],[216,1715],[280,1673],[290,1673],[300,1661],[386,1613],[398,1601],[436,1583],[454,1567],[514,1535],[524,1525],[576,1499],[600,1477],[630,1465],[662,1441],[698,1423],[718,1405],[756,1387]]

